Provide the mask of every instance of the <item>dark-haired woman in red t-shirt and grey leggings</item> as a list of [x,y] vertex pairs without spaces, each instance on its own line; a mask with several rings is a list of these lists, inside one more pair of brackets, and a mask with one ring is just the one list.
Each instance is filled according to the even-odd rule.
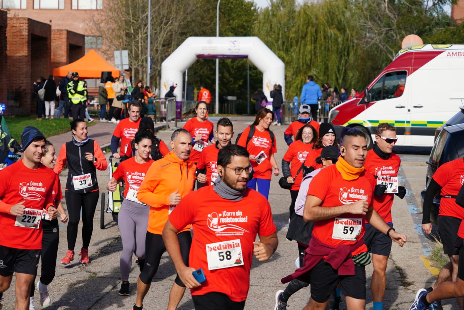
[[150,207],[137,199],[137,191],[142,184],[145,174],[154,162],[150,159],[152,142],[155,137],[146,132],[137,132],[134,138],[135,156],[122,161],[113,177],[106,185],[110,192],[114,192],[117,182],[124,180],[124,200],[118,216],[119,232],[122,240],[122,253],[119,260],[121,271],[121,290],[119,295],[129,296],[129,273],[132,267],[132,254],[139,259],[140,271],[145,265],[145,235],[148,228],[148,212]]

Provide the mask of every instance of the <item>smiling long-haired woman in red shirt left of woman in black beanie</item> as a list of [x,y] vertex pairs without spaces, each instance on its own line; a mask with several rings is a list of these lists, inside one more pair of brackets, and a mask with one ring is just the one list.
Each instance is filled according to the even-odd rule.
[[296,197],[298,197],[301,181],[303,180],[302,170],[304,161],[311,151],[313,143],[318,139],[319,135],[316,129],[310,124],[304,125],[296,131],[295,142],[290,144],[284,158],[282,158],[282,173],[287,178],[287,182],[293,184],[290,189],[291,204],[289,219],[295,213],[295,201]]

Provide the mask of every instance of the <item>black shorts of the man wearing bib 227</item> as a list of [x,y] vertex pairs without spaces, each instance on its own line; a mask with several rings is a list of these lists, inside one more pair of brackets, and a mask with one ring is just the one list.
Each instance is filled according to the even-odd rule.
[[22,250],[0,245],[0,276],[16,273],[37,274],[39,250]]

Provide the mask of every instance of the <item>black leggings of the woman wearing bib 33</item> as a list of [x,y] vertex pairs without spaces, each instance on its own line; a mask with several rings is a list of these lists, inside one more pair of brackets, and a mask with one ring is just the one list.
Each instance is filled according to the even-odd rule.
[[66,207],[68,208],[69,222],[66,236],[68,238],[68,250],[74,251],[77,239],[77,226],[79,225],[81,207],[82,207],[82,247],[89,248],[90,238],[93,231],[93,216],[97,208],[100,190],[95,192],[77,194],[67,190]]

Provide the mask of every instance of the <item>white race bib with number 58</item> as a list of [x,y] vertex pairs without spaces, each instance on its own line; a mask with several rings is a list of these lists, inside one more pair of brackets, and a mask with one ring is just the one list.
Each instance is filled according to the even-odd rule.
[[206,258],[209,270],[243,265],[240,239],[207,244]]

